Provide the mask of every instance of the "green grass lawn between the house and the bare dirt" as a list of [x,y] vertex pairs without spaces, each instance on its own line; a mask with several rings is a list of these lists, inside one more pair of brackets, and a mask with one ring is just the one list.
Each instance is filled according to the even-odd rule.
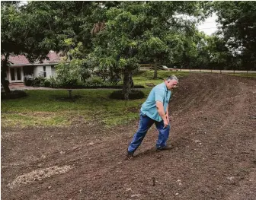
[[[178,77],[188,75],[184,72],[158,71],[154,80],[153,71],[142,71],[134,76],[134,84],[147,88],[142,91],[147,95],[151,87],[146,84],[159,84],[168,75]],[[27,90],[27,97],[16,100],[2,100],[2,127],[27,127],[34,125],[71,125],[80,122],[100,122],[112,126],[126,124],[138,119],[139,109],[146,98],[141,100],[111,100],[109,95],[114,90],[73,90],[75,101],[68,99],[66,90]]]

